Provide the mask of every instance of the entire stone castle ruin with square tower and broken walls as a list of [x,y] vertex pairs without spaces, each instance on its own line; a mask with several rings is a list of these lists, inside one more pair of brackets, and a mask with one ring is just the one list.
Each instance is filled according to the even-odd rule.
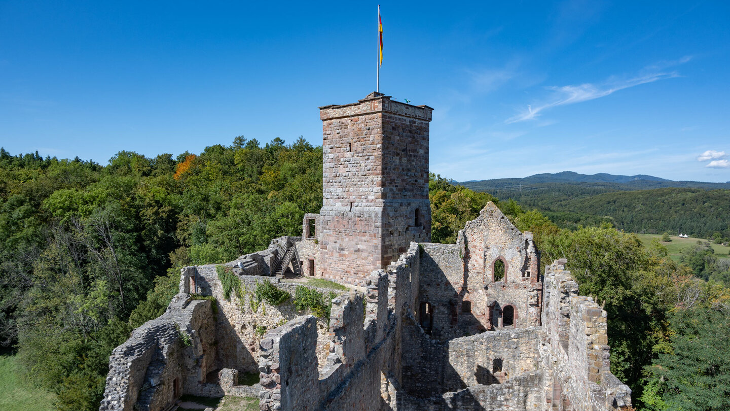
[[[112,352],[99,410],[172,410],[188,393],[258,396],[262,411],[629,408],[606,312],[565,260],[540,274],[532,234],[493,203],[456,244],[430,242],[432,110],[380,93],[320,108],[320,214],[301,237],[183,268],[166,312]],[[250,292],[315,288],[287,273],[349,291],[318,289],[334,296],[328,322]],[[252,372],[258,384],[237,383]]]

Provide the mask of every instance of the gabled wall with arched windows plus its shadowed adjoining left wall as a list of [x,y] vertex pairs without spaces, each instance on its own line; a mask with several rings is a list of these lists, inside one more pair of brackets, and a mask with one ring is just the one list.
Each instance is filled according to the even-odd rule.
[[[421,246],[416,316],[434,339],[540,324],[542,282],[532,233],[520,233],[493,203],[466,223],[457,244]],[[501,281],[493,279],[496,260],[504,263]],[[505,321],[507,307],[513,310],[512,325]]]

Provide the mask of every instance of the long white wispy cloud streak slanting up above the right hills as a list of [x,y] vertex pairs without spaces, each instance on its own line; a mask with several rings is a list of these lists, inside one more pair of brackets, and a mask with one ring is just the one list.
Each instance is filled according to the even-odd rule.
[[543,111],[559,105],[569,105],[578,102],[587,102],[589,100],[606,97],[616,91],[624,88],[639,86],[640,84],[653,83],[666,78],[679,77],[679,73],[675,71],[666,71],[666,68],[684,64],[691,60],[691,56],[685,56],[675,61],[658,61],[648,67],[644,67],[637,75],[628,79],[609,78],[603,83],[593,84],[584,83],[577,86],[552,86],[548,90],[553,91],[553,95],[548,99],[549,102],[542,102],[533,107],[527,105],[527,110],[523,110],[516,116],[507,118],[504,122],[507,124],[517,123],[518,121],[534,120]]

